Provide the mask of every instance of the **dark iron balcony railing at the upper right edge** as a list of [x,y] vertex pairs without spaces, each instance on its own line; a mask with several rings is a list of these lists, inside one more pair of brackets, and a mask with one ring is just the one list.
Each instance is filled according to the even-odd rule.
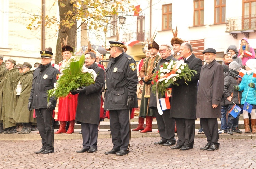
[[256,30],[256,15],[227,18],[226,32]]

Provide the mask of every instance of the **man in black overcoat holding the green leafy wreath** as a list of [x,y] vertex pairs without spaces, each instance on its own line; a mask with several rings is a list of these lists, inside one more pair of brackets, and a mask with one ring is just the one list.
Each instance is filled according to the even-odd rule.
[[89,52],[85,54],[85,65],[93,69],[97,74],[95,83],[82,86],[78,90],[71,91],[78,95],[75,122],[81,124],[83,148],[77,153],[93,153],[97,151],[98,125],[100,121],[101,89],[105,81],[104,70],[95,63],[96,54]]

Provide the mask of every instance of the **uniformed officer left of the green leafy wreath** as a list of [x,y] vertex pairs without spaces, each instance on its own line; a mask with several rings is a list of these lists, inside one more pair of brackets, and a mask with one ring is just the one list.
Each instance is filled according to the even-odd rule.
[[54,88],[56,75],[60,74],[52,64],[53,53],[50,51],[40,51],[41,65],[35,69],[33,75],[33,84],[28,102],[28,109],[35,109],[37,117],[37,126],[42,138],[42,148],[35,154],[48,154],[54,152],[54,128],[53,128],[53,109],[56,106],[56,100],[51,97],[47,102],[47,90]]

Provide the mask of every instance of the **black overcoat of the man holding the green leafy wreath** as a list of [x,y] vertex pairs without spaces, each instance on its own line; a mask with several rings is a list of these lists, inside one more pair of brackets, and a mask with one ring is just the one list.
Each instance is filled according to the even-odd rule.
[[96,63],[89,69],[93,69],[97,74],[95,83],[86,86],[83,92],[78,94],[78,104],[76,109],[75,123],[90,123],[99,125],[101,89],[105,81],[104,70]]

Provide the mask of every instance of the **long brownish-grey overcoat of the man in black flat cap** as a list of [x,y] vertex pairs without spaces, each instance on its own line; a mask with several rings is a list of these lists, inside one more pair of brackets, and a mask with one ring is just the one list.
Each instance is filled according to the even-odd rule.
[[[223,95],[223,67],[214,59],[203,65],[197,94],[197,118],[221,118],[221,97]],[[217,108],[212,104],[218,105]]]

